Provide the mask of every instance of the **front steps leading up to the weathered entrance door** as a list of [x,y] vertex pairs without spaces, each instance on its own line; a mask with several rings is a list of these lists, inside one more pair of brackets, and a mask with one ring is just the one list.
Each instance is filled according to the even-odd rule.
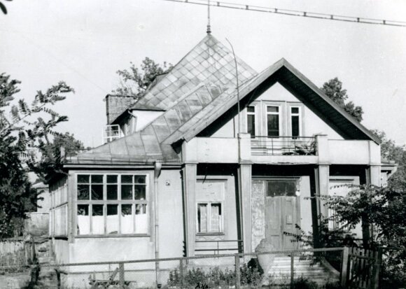
[[[265,278],[264,285],[290,283],[290,257],[275,256],[272,267],[268,270],[268,279]],[[325,285],[328,281],[335,282],[339,280],[338,272],[329,269],[327,266],[311,260],[303,260],[300,257],[294,258],[294,278],[303,277],[309,281],[314,281],[318,285]]]

